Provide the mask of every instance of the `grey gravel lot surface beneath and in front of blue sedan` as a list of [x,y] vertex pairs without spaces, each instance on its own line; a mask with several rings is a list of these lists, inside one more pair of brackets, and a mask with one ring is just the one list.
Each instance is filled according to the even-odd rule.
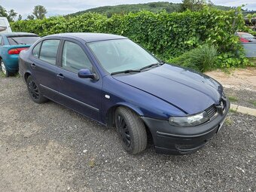
[[256,191],[256,117],[230,113],[195,154],[126,154],[114,130],[0,78],[0,191]]

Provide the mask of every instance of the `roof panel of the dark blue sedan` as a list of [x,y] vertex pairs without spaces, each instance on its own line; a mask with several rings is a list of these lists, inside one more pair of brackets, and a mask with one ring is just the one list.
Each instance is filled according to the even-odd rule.
[[70,32],[70,33],[59,33],[55,35],[48,35],[47,37],[69,37],[69,38],[81,38],[87,43],[93,41],[105,41],[111,39],[123,39],[125,37],[120,35],[112,35],[106,33],[93,33],[93,32]]

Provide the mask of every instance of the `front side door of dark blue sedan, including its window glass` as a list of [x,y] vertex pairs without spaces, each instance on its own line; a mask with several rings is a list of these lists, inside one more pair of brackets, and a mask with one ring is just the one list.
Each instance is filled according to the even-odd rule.
[[93,62],[80,42],[64,41],[61,53],[60,67],[57,69],[59,102],[99,121],[102,78],[93,80],[78,77],[80,69],[94,71]]

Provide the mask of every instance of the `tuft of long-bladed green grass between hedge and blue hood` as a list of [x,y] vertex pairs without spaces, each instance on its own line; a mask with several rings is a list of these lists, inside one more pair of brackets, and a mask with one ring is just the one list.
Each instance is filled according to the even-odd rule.
[[204,44],[175,59],[170,59],[169,62],[197,69],[200,72],[206,72],[210,69],[215,69],[217,54],[217,49],[214,46]]

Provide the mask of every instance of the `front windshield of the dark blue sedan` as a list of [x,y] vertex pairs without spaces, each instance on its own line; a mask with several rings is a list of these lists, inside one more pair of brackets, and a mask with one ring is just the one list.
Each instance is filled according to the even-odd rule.
[[101,66],[109,73],[139,70],[159,61],[129,39],[88,43]]

